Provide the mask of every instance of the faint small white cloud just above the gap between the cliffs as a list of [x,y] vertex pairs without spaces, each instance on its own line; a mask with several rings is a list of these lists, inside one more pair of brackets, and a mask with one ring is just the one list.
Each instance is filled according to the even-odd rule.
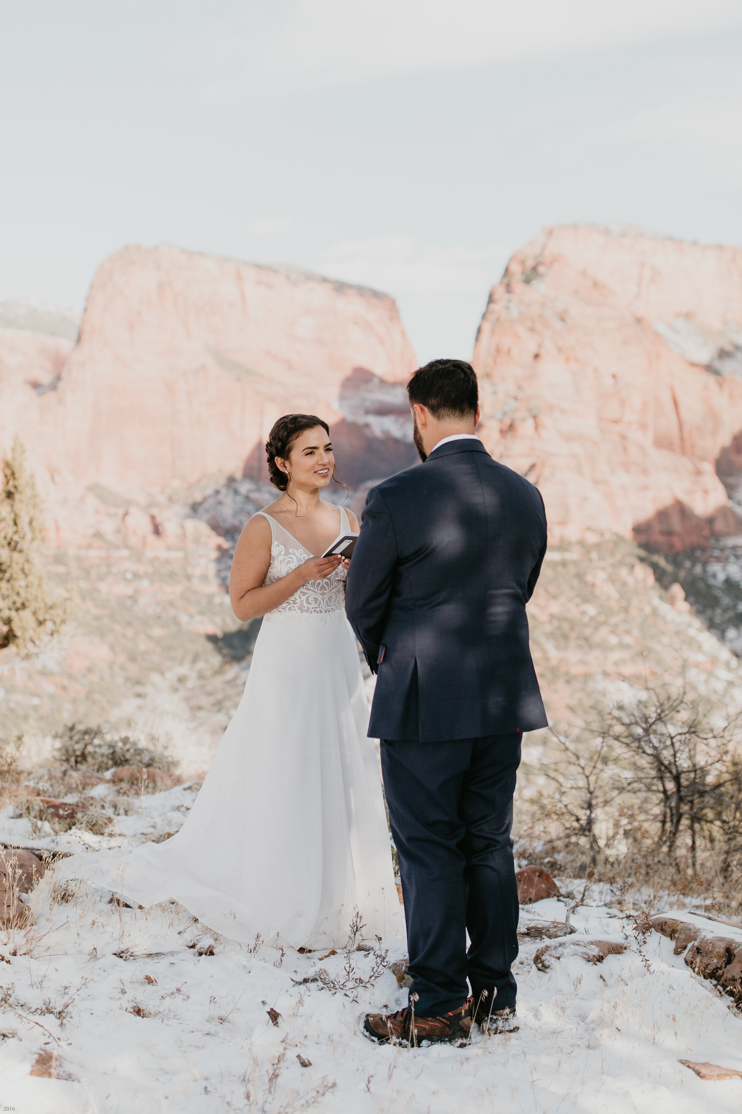
[[328,247],[321,254],[320,270],[394,296],[471,293],[481,297],[499,280],[509,254],[501,244],[472,251],[419,244],[412,236],[372,236]]

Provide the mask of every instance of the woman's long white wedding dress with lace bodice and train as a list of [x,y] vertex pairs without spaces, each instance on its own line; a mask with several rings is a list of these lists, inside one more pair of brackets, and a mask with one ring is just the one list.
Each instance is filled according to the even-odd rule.
[[[311,554],[265,518],[273,584]],[[340,529],[349,529],[344,510]],[[116,862],[111,852],[90,856],[90,868],[99,860],[91,881],[145,907],[175,899],[244,942],[339,946],[356,912],[364,937],[404,937],[344,597],[340,567],[265,616],[245,693],[186,823]]]

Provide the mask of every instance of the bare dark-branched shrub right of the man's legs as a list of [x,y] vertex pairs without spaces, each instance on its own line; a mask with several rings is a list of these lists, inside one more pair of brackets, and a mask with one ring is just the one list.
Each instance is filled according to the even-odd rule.
[[523,797],[520,851],[619,887],[712,892],[740,903],[740,723],[693,693],[646,685],[592,724],[552,732],[541,786]]

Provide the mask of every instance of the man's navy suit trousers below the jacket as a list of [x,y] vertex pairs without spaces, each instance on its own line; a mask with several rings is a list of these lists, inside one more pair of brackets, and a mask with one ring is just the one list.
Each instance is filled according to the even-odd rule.
[[382,741],[409,993],[417,995],[419,1017],[461,1006],[467,978],[475,1006],[485,990],[487,1012],[515,1006],[518,899],[511,828],[522,737]]

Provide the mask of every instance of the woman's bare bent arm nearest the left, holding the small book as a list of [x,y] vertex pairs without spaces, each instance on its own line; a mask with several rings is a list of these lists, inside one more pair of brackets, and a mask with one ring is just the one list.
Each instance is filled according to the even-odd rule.
[[235,546],[229,573],[229,602],[241,623],[273,612],[307,580],[321,580],[335,571],[339,557],[310,557],[293,573],[274,584],[264,585],[270,565],[270,524],[256,515]]

